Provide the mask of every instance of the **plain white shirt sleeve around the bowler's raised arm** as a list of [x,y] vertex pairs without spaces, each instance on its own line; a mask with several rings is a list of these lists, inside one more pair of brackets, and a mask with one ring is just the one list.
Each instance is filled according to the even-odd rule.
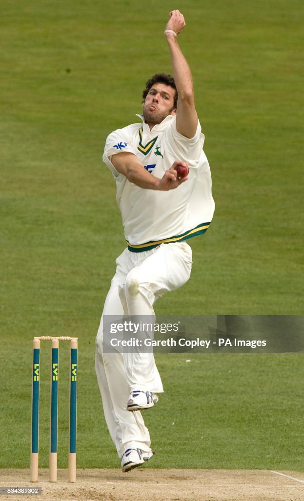
[[172,120],[171,126],[168,127],[166,133],[167,141],[177,157],[176,159],[188,162],[190,166],[195,167],[200,158],[204,142],[204,135],[201,133],[199,121],[197,120],[196,132],[190,139],[177,132],[176,117]]

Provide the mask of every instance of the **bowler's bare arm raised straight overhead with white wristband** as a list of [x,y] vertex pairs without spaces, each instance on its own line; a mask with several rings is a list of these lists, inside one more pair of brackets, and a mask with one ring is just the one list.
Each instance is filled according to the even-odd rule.
[[[183,15],[179,11],[170,12],[166,30],[180,33],[185,26]],[[169,46],[173,76],[178,92],[176,110],[176,129],[182,136],[192,138],[197,127],[197,113],[194,106],[192,75],[177,42],[172,33],[165,33]]]

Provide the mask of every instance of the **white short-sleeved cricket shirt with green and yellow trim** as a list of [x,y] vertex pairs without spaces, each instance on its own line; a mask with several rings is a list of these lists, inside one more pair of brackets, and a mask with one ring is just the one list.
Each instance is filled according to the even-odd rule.
[[[141,115],[137,116],[143,120]],[[186,240],[206,231],[213,216],[214,201],[203,141],[199,122],[194,137],[188,139],[177,132],[173,115],[168,115],[152,130],[143,121],[117,129],[106,138],[103,161],[116,180],[116,200],[124,235],[133,252],[148,250],[163,242]],[[111,156],[119,152],[133,153],[144,168],[158,178],[175,160],[188,162],[188,180],[169,191],[139,188],[111,163]]]

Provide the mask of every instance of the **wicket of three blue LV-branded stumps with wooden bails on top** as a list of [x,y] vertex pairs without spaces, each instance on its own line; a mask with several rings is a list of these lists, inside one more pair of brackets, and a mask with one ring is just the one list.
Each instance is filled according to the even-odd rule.
[[70,342],[69,370],[69,452],[68,481],[76,481],[76,412],[77,412],[77,353],[78,338],[68,336],[40,336],[33,339],[32,356],[32,396],[31,396],[31,449],[30,481],[38,481],[39,442],[39,379],[40,342],[51,341],[50,377],[50,438],[49,438],[49,481],[57,481],[57,428],[58,428],[58,377],[59,341]]

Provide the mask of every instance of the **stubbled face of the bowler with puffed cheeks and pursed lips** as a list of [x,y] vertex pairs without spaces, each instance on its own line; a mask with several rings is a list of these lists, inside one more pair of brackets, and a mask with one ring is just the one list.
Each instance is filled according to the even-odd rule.
[[170,85],[153,84],[142,106],[145,122],[153,126],[160,124],[166,116],[175,115],[174,96],[175,90]]

